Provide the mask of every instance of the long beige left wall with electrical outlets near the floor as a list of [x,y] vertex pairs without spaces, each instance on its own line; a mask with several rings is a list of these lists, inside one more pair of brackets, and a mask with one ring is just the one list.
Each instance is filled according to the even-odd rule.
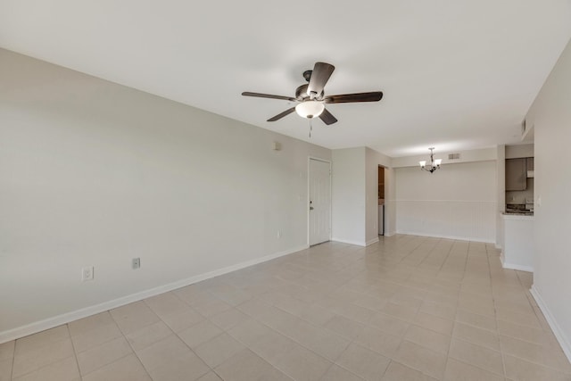
[[308,156],[331,151],[0,50],[0,342],[305,247]]

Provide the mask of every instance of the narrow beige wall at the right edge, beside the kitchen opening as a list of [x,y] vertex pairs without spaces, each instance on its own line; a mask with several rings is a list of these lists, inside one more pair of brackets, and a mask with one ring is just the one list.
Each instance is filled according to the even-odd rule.
[[526,120],[534,126],[533,294],[571,360],[571,42]]

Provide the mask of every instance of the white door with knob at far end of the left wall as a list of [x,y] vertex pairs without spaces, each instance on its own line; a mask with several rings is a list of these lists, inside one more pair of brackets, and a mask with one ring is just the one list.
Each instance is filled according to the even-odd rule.
[[331,238],[331,164],[310,159],[310,245]]

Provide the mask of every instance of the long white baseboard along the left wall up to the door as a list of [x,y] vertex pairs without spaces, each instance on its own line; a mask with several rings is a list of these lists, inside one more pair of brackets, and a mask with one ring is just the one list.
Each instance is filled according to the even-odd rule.
[[213,271],[209,271],[203,274],[196,275],[194,277],[187,277],[185,279],[180,279],[176,282],[169,283],[167,285],[154,287],[145,291],[141,291],[136,294],[129,294],[126,296],[121,296],[120,298],[113,299],[112,301],[103,302],[99,304],[95,304],[93,306],[89,306],[86,308],[82,308],[76,311],[70,311],[63,313],[62,315],[54,316],[53,318],[48,318],[40,321],[36,321],[34,323],[27,324],[22,327],[16,327],[9,329],[4,332],[0,332],[0,344],[9,342],[14,339],[18,339],[27,335],[37,334],[38,332],[45,331],[46,329],[58,327],[62,324],[67,324],[70,321],[74,321],[77,319],[87,318],[88,316],[95,315],[96,313],[109,311],[114,308],[126,305],[132,302],[138,302],[143,299],[149,298],[154,295],[167,293],[172,290],[176,290],[177,288],[189,286],[194,283],[210,279],[211,277],[219,277],[220,275],[228,274],[228,272],[236,271],[238,269],[244,269],[253,265],[256,265],[261,262],[271,261],[279,257],[283,257],[284,255],[288,255],[291,253],[296,253],[307,249],[308,245],[302,245],[299,247],[294,247],[289,250],[285,250],[284,252],[280,253],[273,253],[261,258],[257,258],[252,261],[244,261],[241,263],[237,263],[232,266],[228,266],[222,269],[216,269]]

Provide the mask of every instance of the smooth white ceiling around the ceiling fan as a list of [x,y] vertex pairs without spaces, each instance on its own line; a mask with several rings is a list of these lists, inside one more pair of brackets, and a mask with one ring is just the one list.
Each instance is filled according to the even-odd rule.
[[[571,37],[570,0],[0,0],[0,46],[328,148],[393,157],[512,144]],[[326,128],[286,101],[314,62]]]

